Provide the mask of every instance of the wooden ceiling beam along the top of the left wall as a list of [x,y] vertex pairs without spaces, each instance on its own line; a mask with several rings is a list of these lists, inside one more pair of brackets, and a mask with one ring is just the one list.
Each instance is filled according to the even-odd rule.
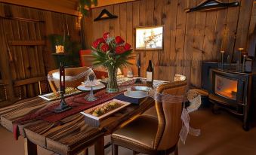
[[72,2],[67,0],[0,0],[0,2],[79,16],[79,12],[76,11],[77,2],[75,1]]

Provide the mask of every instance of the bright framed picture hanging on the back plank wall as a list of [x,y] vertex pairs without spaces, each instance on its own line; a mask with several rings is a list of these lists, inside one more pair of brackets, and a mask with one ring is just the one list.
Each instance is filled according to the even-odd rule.
[[162,50],[163,26],[135,28],[135,50]]

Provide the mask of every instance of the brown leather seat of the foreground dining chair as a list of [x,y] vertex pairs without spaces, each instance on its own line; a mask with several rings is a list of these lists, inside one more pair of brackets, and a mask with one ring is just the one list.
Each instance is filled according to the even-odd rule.
[[122,139],[122,141],[127,141],[127,143],[153,149],[157,129],[158,120],[152,117],[140,116],[116,132],[113,132],[112,138]]

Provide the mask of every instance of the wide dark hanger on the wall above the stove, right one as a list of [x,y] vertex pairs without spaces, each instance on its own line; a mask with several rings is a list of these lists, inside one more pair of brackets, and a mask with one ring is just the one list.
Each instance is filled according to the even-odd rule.
[[228,8],[228,7],[236,7],[239,5],[240,5],[239,2],[223,3],[217,0],[207,0],[199,4],[198,6],[194,8],[189,8],[185,11],[187,13],[193,12],[193,11],[214,11],[214,10]]

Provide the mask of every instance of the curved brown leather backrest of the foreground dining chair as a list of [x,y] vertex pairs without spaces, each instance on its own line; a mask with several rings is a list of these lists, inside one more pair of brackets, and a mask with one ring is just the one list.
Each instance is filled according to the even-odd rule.
[[[156,91],[157,93],[167,93],[172,96],[183,96],[187,92],[187,80],[162,84]],[[166,150],[177,144],[181,129],[181,111],[182,102],[168,103],[156,101],[159,126],[154,147],[157,150]]]

